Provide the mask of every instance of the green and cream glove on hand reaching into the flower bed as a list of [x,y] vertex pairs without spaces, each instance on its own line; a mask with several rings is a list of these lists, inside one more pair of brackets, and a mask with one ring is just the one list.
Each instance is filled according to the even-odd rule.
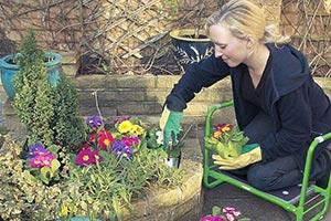
[[168,148],[169,141],[172,141],[173,145],[178,143],[178,135],[182,130],[182,112],[173,112],[167,106],[164,107],[159,123],[163,133],[163,149]]

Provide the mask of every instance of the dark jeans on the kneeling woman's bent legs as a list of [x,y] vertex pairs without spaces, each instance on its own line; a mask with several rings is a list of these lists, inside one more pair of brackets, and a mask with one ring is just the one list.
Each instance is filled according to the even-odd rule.
[[[274,125],[270,117],[260,113],[244,129],[249,137],[249,143],[258,143],[266,135],[274,131]],[[325,157],[318,157],[311,168],[311,179],[320,179],[330,168],[327,169]],[[329,159],[330,160],[330,159]],[[302,182],[302,172],[298,168],[292,156],[279,157],[269,162],[257,162],[246,168],[233,170],[237,175],[247,175],[247,181],[255,188],[260,190],[275,190],[285,187],[299,185]]]

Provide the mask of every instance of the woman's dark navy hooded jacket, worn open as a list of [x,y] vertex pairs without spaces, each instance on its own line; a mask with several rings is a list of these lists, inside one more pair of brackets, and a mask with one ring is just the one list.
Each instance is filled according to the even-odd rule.
[[[263,161],[291,155],[300,169],[303,169],[311,140],[318,135],[331,131],[330,99],[313,81],[308,63],[298,50],[288,44],[266,45],[273,61],[265,82],[264,102],[266,114],[271,117],[277,129],[259,144]],[[202,87],[209,87],[229,75],[235,114],[238,126],[243,129],[259,112],[258,107],[242,97],[241,84],[245,69],[245,64],[229,67],[212,55],[191,65],[174,85],[166,105],[170,110],[181,112]],[[314,157],[327,145],[328,143],[320,145]]]

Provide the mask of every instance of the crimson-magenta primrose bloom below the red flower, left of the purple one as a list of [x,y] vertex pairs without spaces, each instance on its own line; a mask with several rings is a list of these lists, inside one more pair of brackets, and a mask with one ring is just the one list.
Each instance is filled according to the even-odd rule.
[[97,161],[102,161],[102,160],[103,158],[99,155],[98,150],[93,149],[88,145],[84,145],[75,158],[75,164],[79,166],[87,166],[87,165],[94,165]]

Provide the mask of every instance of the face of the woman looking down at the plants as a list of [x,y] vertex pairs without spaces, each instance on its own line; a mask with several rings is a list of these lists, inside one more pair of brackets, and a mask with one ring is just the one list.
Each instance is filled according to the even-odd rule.
[[210,27],[210,39],[215,46],[215,57],[222,59],[231,67],[245,63],[250,53],[247,40],[234,36],[222,24]]

